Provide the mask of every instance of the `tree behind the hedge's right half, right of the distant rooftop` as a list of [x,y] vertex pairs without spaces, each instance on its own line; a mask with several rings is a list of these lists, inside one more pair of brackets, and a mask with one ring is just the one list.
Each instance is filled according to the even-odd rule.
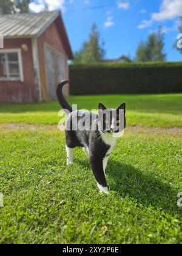
[[164,34],[161,27],[156,33],[149,35],[145,43],[140,43],[136,50],[136,60],[140,62],[164,61],[166,54],[164,49]]

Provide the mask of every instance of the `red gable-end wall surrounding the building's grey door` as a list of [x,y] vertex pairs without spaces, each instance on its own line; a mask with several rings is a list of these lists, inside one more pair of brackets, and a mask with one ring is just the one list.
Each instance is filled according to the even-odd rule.
[[[46,85],[46,75],[45,75],[45,58],[44,58],[44,43],[49,44],[52,48],[58,50],[66,56],[66,79],[69,79],[69,70],[67,63],[67,53],[64,47],[64,38],[60,35],[60,18],[58,17],[54,23],[52,23],[39,37],[38,37],[38,56],[39,56],[39,71],[40,79],[42,85],[42,97],[48,100],[48,92]],[[69,87],[67,87],[66,94],[68,94]]]

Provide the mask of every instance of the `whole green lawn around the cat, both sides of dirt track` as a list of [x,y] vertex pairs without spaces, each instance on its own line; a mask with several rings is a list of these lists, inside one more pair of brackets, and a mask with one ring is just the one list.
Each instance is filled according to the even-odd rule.
[[[69,98],[89,109],[100,101],[108,107],[126,101],[129,126],[143,126],[142,133],[126,130],[110,156],[109,195],[98,192],[81,149],[73,166],[66,165],[64,133],[53,126],[56,102],[1,105],[0,243],[182,243],[182,135],[146,129],[181,127],[181,99],[182,94]],[[2,129],[5,123],[44,126]]]

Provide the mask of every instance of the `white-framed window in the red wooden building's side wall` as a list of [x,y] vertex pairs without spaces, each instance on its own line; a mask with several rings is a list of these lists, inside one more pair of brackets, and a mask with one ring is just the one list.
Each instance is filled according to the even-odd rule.
[[21,50],[0,51],[0,80],[23,80]]

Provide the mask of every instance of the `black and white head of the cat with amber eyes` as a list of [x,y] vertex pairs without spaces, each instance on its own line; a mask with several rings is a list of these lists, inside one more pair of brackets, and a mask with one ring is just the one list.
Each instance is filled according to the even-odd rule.
[[120,107],[112,109],[106,108],[102,103],[99,103],[98,127],[104,133],[119,133],[123,132],[126,127],[126,104],[123,103]]

